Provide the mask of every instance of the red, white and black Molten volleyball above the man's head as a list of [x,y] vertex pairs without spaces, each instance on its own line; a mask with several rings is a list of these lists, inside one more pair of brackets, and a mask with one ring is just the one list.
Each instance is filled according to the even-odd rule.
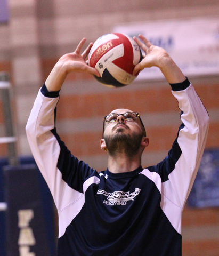
[[94,77],[113,88],[130,84],[136,78],[133,69],[141,60],[139,45],[132,37],[119,33],[98,38],[88,55],[89,65],[100,73],[100,77]]

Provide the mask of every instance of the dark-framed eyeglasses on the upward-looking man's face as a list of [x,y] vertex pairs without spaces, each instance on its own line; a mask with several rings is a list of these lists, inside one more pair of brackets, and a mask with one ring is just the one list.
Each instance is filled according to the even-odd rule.
[[106,121],[107,123],[116,122],[118,116],[123,116],[126,121],[135,120],[135,119],[137,119],[137,117],[139,117],[139,120],[140,120],[140,122],[141,122],[141,124],[142,124],[142,127],[143,127],[143,129],[144,129],[144,136],[146,137],[146,131],[145,131],[145,128],[144,128],[142,119],[141,119],[139,113],[136,113],[136,112],[126,112],[126,113],[124,113],[124,114],[112,113],[112,114],[109,114],[109,115],[107,115],[107,116],[104,116],[104,117],[103,117],[103,133],[104,133],[105,121]]

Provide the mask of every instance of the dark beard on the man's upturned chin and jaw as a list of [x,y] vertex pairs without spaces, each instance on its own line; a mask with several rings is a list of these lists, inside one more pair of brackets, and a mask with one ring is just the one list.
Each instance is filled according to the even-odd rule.
[[104,140],[111,156],[125,153],[129,158],[132,158],[139,152],[143,135],[143,132],[139,134],[133,132],[131,136],[130,134],[124,134],[122,130],[118,129],[115,135],[104,136]]

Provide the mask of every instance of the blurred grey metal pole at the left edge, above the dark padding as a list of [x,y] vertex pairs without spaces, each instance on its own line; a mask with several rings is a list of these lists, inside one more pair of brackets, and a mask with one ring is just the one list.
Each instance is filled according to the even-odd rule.
[[9,165],[17,166],[19,164],[16,149],[16,138],[14,137],[11,99],[10,99],[10,82],[7,73],[0,73],[0,89],[2,91],[2,103],[5,122],[6,137],[0,138],[0,143],[7,143]]

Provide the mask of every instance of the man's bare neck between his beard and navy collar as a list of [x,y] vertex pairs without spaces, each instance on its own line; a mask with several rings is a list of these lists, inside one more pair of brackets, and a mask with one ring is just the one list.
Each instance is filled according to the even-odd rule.
[[108,169],[112,173],[131,172],[141,165],[141,155],[130,158],[125,153],[108,156]]

